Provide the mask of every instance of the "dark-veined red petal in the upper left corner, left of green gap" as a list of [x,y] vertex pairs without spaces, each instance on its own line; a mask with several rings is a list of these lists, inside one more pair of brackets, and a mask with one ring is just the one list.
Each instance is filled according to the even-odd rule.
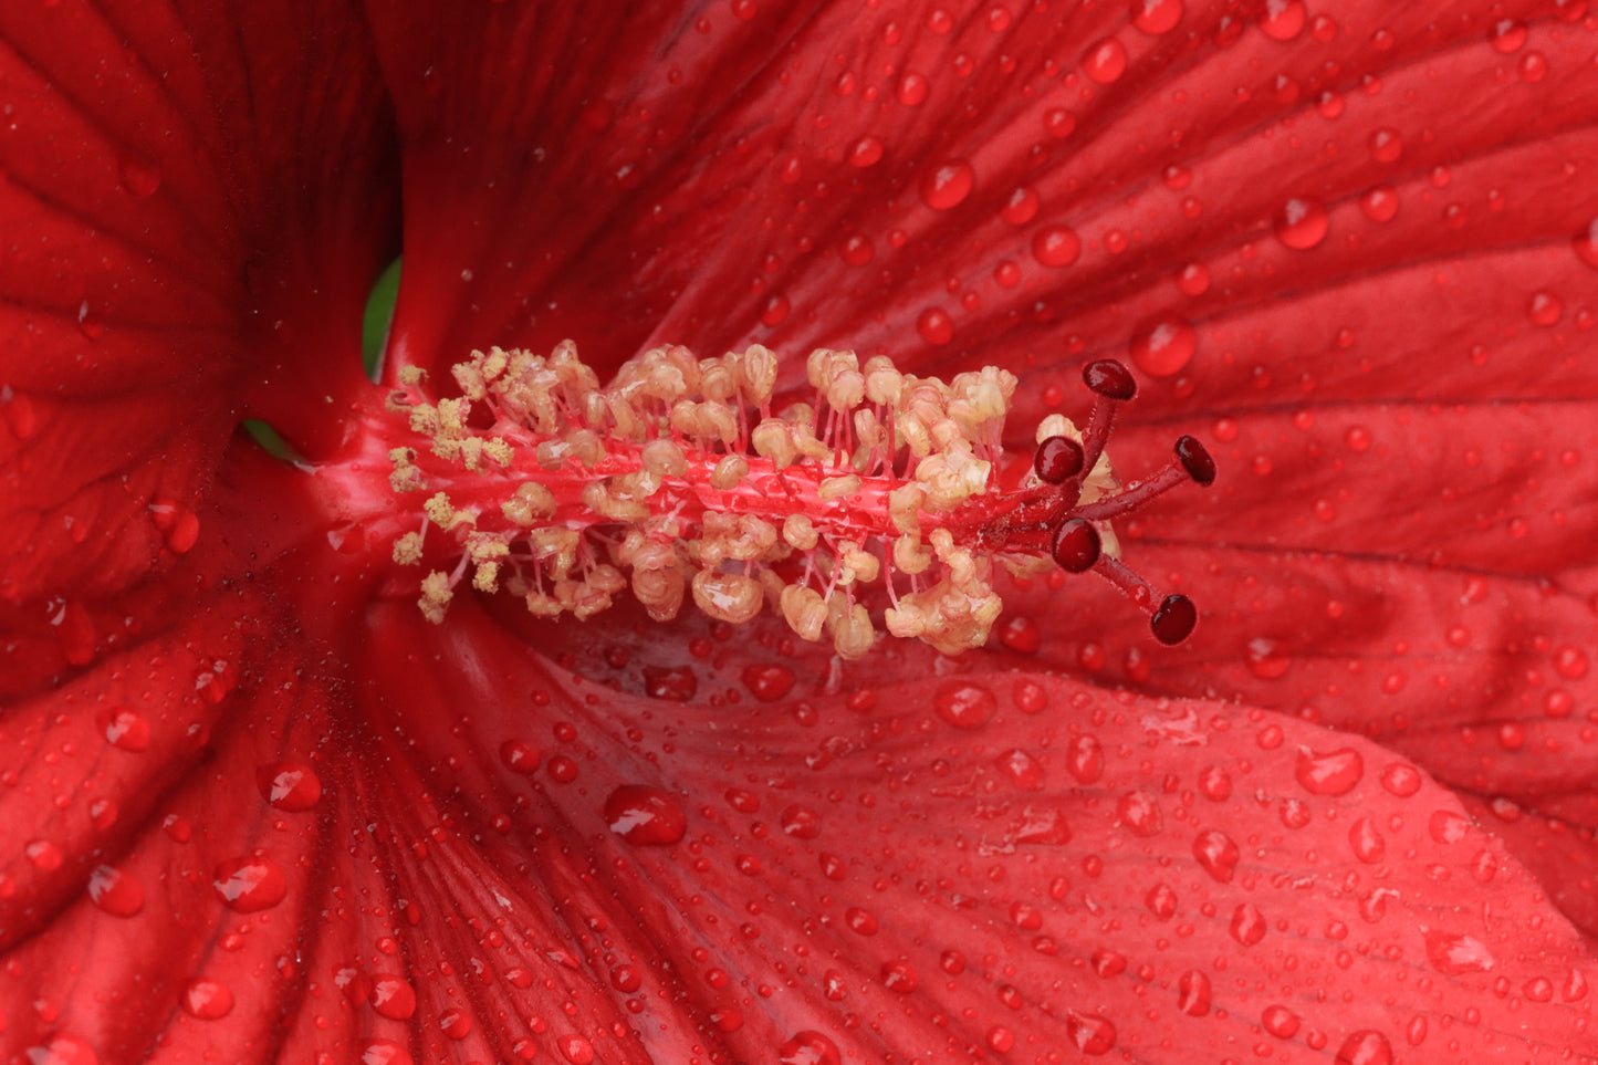
[[[324,3],[0,13],[0,596],[102,593],[189,550],[243,403],[302,446],[326,435],[302,374],[316,368],[318,395],[360,381],[392,203],[372,187],[390,141],[356,19]],[[342,363],[308,326],[321,301],[347,312]],[[246,353],[296,398],[251,398]]]

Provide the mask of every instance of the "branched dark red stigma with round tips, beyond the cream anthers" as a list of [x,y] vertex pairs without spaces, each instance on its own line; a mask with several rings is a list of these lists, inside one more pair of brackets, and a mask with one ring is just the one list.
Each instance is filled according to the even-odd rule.
[[1082,369],[1082,381],[1095,393],[1082,443],[1066,437],[1050,437],[1037,446],[1032,469],[1043,485],[1058,489],[1051,504],[1050,553],[1067,572],[1095,571],[1149,611],[1149,630],[1165,644],[1181,643],[1198,622],[1198,611],[1186,595],[1160,595],[1154,585],[1133,572],[1123,561],[1103,550],[1103,537],[1095,523],[1111,521],[1136,510],[1157,496],[1186,481],[1203,486],[1214,483],[1214,459],[1192,437],[1181,437],[1175,461],[1152,477],[1130,481],[1114,496],[1082,502],[1082,481],[1104,453],[1117,408],[1138,393],[1131,371],[1114,358],[1101,358]]

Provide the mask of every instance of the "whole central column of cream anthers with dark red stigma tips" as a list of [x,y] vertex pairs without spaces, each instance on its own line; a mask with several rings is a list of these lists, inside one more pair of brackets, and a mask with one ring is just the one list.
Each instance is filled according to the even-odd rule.
[[1104,441],[1136,390],[1120,363],[1087,366],[1087,430],[1043,419],[1015,489],[997,477],[1008,371],[944,384],[818,349],[815,401],[773,414],[777,366],[761,345],[703,360],[658,347],[601,387],[570,342],[547,357],[492,349],[454,366],[460,398],[436,401],[420,369],[403,371],[390,408],[428,445],[390,453],[395,491],[425,496],[393,556],[452,561],[422,579],[422,612],[441,622],[470,571],[478,592],[543,617],[590,617],[623,588],[657,620],[689,596],[733,624],[770,604],[857,659],[880,588],[887,632],[952,654],[988,640],[999,561],[1093,569],[1149,611],[1160,641],[1192,630],[1192,601],[1128,569],[1109,523],[1186,480],[1211,483],[1214,464],[1183,437],[1167,469],[1115,481]]

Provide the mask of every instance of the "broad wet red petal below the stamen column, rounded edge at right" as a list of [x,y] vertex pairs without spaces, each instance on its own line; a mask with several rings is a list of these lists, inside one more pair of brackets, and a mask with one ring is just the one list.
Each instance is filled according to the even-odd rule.
[[[11,1046],[1598,1051],[1579,935],[1446,788],[1368,740],[1024,673],[762,700],[738,672],[777,652],[698,662],[697,697],[649,699],[602,648],[556,665],[457,608],[435,628],[376,603],[363,640],[304,632],[249,664],[206,763],[129,804],[131,843],[104,856],[142,910],[109,915],[123,881],[72,848],[88,897],[8,921],[27,935],[0,977]],[[51,705],[69,723],[74,694]],[[69,811],[85,769],[56,766]],[[45,964],[62,956],[86,961]]]

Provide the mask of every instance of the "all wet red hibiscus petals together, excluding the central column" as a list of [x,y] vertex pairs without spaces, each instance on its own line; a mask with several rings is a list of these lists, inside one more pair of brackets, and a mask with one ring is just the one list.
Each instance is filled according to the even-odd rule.
[[[232,6],[0,8],[6,1060],[1598,1057],[1584,0]],[[1123,360],[1198,627],[435,624],[388,395],[567,337]]]

